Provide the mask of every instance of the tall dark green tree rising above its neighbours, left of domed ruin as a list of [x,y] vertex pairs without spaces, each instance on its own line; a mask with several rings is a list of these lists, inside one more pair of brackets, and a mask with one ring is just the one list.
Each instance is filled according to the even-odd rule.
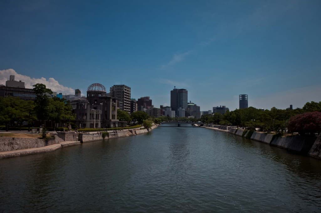
[[49,96],[47,94],[52,94],[52,91],[47,89],[46,85],[42,83],[37,83],[33,86],[33,91],[36,93],[35,111],[38,119],[43,123],[43,121],[49,118]]

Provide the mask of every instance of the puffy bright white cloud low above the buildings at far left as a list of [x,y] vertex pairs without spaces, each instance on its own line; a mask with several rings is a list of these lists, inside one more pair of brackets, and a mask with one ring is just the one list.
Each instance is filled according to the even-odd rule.
[[9,80],[9,76],[14,75],[16,81],[25,82],[25,87],[32,89],[34,84],[43,83],[47,88],[51,89],[53,92],[62,92],[63,94],[74,94],[75,90],[70,87],[66,87],[61,85],[54,78],[48,78],[48,80],[44,77],[41,78],[31,78],[27,75],[18,74],[14,69],[4,69],[0,70],[0,84],[4,84],[7,80]]

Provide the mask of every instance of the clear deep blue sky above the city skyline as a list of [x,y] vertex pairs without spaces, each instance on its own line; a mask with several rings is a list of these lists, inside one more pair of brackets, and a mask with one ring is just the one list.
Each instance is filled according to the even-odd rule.
[[239,94],[257,108],[302,107],[321,101],[320,11],[295,0],[4,0],[0,80],[13,69],[84,94],[126,84],[157,107],[174,86],[201,110],[238,108]]

